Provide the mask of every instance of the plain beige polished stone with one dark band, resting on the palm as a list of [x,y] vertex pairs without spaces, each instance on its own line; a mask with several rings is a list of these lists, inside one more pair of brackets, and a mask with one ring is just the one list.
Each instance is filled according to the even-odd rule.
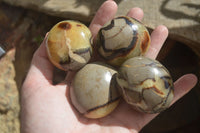
[[85,117],[101,118],[111,113],[119,103],[116,71],[101,63],[87,64],[72,83],[70,97],[74,107]]

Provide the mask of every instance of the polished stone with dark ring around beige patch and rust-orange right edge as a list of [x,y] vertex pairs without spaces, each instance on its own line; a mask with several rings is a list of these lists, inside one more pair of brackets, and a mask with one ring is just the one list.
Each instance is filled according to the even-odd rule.
[[144,55],[149,44],[150,36],[146,27],[127,16],[106,23],[97,36],[100,55],[114,66],[120,66],[129,58]]

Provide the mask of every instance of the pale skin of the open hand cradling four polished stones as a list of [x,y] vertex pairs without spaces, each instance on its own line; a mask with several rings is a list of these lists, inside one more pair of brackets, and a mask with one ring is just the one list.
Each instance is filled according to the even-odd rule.
[[[101,26],[117,11],[114,1],[102,4],[90,24],[95,37]],[[128,16],[141,21],[143,11],[132,8]],[[151,34],[151,45],[146,56],[155,59],[168,35],[165,26],[158,26]],[[102,119],[87,119],[71,105],[69,88],[72,77],[52,85],[54,66],[49,62],[44,43],[35,52],[30,70],[21,89],[22,133],[138,133],[158,114],[144,114],[130,108],[123,100],[117,109]],[[173,103],[189,92],[197,83],[193,74],[180,77],[175,83]]]

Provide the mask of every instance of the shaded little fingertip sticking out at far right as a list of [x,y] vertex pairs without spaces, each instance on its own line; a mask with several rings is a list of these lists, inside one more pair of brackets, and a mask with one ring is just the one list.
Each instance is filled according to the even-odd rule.
[[196,83],[197,77],[193,74],[187,74],[179,78],[174,83],[175,90],[172,104],[188,93],[196,85]]

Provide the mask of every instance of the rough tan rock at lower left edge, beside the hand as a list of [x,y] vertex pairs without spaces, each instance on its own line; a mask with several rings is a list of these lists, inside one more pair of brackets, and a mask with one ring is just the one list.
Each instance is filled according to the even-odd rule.
[[15,50],[0,60],[0,132],[19,133],[19,94],[15,82]]

